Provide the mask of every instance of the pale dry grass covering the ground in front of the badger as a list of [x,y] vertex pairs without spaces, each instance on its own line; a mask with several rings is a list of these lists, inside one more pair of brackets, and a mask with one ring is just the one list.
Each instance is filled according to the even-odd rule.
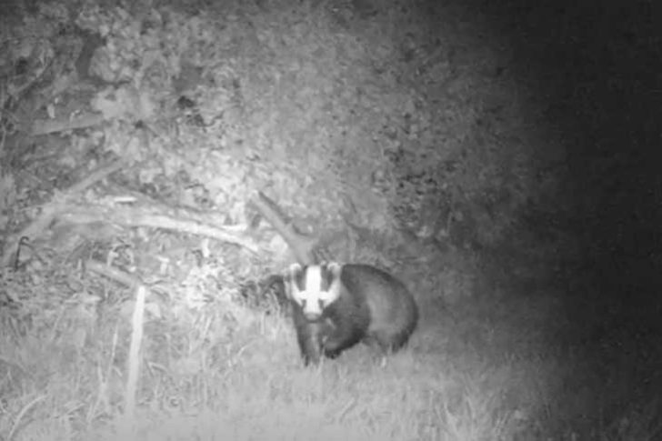
[[[653,439],[659,404],[624,404],[637,398],[627,391],[637,383],[631,357],[596,371],[586,350],[558,343],[567,324],[559,302],[545,299],[474,300],[464,312],[454,307],[456,320],[424,304],[410,346],[386,366],[357,347],[305,369],[281,316],[245,311],[231,324],[206,311],[187,327],[152,320],[134,438]],[[106,316],[82,342],[76,323],[3,332],[5,439],[126,439],[128,321]]]

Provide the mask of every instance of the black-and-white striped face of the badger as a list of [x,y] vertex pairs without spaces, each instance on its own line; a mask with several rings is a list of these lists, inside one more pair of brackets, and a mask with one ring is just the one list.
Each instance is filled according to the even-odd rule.
[[287,295],[301,306],[307,320],[319,319],[326,306],[340,296],[340,270],[341,266],[336,263],[303,267],[293,264],[289,267]]

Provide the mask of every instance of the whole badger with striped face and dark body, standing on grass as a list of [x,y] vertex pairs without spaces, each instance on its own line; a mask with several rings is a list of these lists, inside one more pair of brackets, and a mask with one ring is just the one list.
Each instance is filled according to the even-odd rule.
[[284,280],[305,366],[336,358],[358,342],[393,353],[416,329],[414,297],[375,266],[293,264]]

